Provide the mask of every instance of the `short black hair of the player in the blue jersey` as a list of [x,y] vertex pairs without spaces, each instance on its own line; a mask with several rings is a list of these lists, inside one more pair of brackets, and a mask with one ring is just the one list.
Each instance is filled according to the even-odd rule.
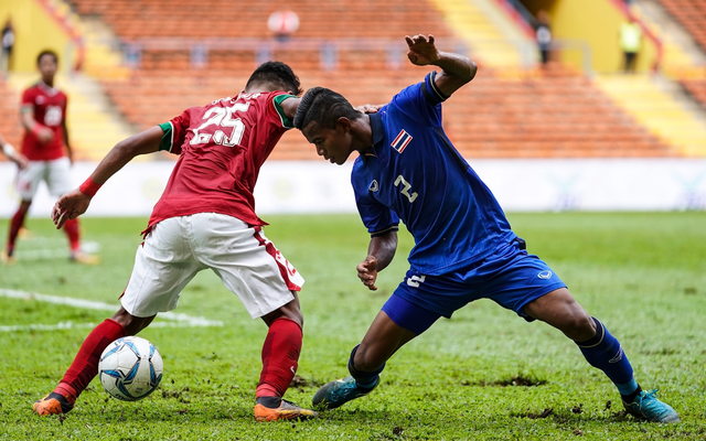
[[312,87],[301,98],[293,122],[299,130],[303,130],[311,121],[327,129],[335,129],[339,118],[352,121],[362,115],[343,95],[325,87]]

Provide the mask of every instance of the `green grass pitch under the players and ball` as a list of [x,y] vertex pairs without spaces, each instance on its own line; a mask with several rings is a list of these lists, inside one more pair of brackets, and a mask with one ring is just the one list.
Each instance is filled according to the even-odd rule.
[[[441,320],[387,364],[371,396],[304,422],[253,418],[266,335],[211,272],[184,290],[176,312],[222,327],[150,327],[164,359],[159,389],[138,402],[108,399],[95,379],[65,418],[31,404],[52,390],[88,329],[109,312],[0,295],[0,439],[111,440],[656,440],[706,439],[706,213],[510,214],[528,250],[622,343],[643,388],[659,388],[683,423],[635,421],[614,387],[558,331],[483,300]],[[408,234],[367,291],[355,276],[367,235],[354,215],[267,216],[268,237],[307,279],[304,345],[287,398],[309,405],[346,375],[350,349],[402,280]],[[31,219],[20,261],[0,266],[0,290],[115,304],[132,268],[143,218],[86,218],[103,263],[71,265],[63,234]],[[4,236],[7,220],[0,222]],[[4,239],[4,237],[3,237]],[[4,244],[4,240],[2,240]],[[158,318],[154,323],[167,323]],[[8,331],[9,326],[14,331]],[[610,402],[609,402],[610,401]]]

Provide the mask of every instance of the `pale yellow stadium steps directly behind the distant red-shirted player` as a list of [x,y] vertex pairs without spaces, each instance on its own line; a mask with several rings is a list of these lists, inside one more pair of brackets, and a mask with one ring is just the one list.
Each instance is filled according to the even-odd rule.
[[[8,84],[21,94],[36,80],[38,74],[12,74]],[[76,160],[98,161],[118,141],[132,135],[94,79],[83,74],[57,74],[56,86],[68,96],[68,139]]]

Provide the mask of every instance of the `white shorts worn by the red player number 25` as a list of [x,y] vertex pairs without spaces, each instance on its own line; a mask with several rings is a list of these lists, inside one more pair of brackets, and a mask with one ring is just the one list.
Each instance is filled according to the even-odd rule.
[[217,213],[164,219],[137,250],[132,276],[120,301],[135,316],[176,308],[186,283],[211,268],[253,319],[295,299],[304,279],[260,227]]

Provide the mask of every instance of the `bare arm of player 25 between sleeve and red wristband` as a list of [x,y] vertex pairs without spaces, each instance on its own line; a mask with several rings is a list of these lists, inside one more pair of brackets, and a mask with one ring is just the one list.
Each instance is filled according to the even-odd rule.
[[162,129],[154,126],[118,142],[96,166],[90,179],[96,184],[103,185],[135,157],[159,151],[162,135]]

